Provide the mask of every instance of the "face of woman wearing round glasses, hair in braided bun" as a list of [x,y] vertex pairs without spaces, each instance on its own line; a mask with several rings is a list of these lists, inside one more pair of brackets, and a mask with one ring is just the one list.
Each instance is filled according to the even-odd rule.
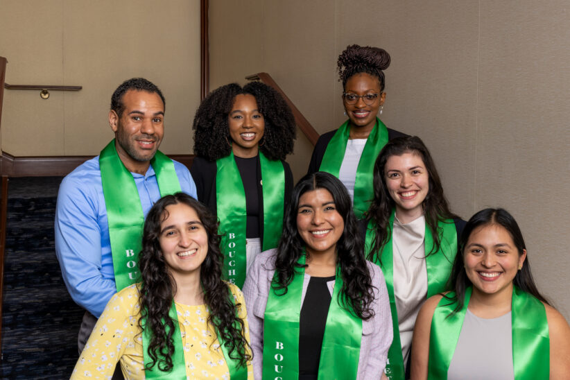
[[378,78],[367,73],[354,74],[346,82],[345,94],[357,96],[378,94],[371,105],[366,104],[363,98],[359,98],[354,104],[348,104],[343,97],[343,104],[350,119],[351,128],[370,132],[376,124],[378,110],[386,100],[386,93],[381,92]]

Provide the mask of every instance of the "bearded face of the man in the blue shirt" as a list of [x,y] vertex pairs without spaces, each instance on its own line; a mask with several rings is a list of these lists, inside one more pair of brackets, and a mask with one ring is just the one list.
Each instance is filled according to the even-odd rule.
[[121,117],[109,112],[115,147],[129,171],[144,174],[164,136],[164,103],[153,92],[130,89],[121,98]]

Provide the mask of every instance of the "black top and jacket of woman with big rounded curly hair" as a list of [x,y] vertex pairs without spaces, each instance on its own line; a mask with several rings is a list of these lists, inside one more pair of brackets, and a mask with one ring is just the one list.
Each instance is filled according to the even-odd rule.
[[[239,161],[239,157],[236,157],[236,164]],[[248,160],[248,159],[243,159]],[[285,209],[289,201],[291,200],[291,193],[293,192],[293,173],[291,173],[291,168],[289,164],[281,161],[283,164],[283,169],[285,171]],[[247,164],[246,164],[247,165]],[[264,236],[264,193],[261,189],[261,164],[259,164],[259,157],[256,158],[256,166],[255,175],[252,174],[252,169],[247,169],[248,171],[248,180],[249,178],[254,178],[254,182],[251,184],[245,184],[245,180],[243,179],[243,173],[241,173],[241,169],[238,169],[241,174],[242,182],[244,183],[243,188],[245,191],[245,207],[247,209],[248,214],[250,213],[249,207],[251,207],[250,203],[254,202],[256,199],[255,196],[248,196],[248,189],[251,187],[257,187],[257,215],[258,215],[258,225],[257,230],[259,231],[255,236],[261,237],[263,243],[263,236]],[[218,170],[218,166],[216,166],[216,161],[208,161],[204,157],[194,157],[192,166],[190,167],[190,173],[192,175],[192,179],[196,183],[196,193],[198,195],[198,200],[204,203],[214,215],[218,214],[218,206],[216,204],[216,173]],[[259,178],[260,180],[257,180]],[[246,232],[247,237],[249,236],[250,231],[250,218],[248,218],[248,225],[246,226],[248,232]]]

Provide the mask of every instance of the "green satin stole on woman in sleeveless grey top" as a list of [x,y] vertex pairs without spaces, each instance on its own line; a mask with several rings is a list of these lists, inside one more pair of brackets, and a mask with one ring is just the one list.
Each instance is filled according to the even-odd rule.
[[[458,302],[449,301],[455,293],[443,297],[433,312],[429,339],[428,379],[447,379],[465,312],[473,288],[465,291],[463,309],[449,315]],[[449,317],[448,317],[449,316]],[[549,379],[550,338],[544,304],[533,295],[513,286],[512,291],[512,365],[516,380]]]

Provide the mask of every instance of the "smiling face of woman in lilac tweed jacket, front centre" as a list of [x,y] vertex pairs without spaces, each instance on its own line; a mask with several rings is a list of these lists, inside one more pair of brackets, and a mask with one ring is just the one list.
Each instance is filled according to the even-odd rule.
[[344,230],[345,221],[327,189],[307,191],[299,198],[297,231],[309,255],[336,254],[336,242]]

